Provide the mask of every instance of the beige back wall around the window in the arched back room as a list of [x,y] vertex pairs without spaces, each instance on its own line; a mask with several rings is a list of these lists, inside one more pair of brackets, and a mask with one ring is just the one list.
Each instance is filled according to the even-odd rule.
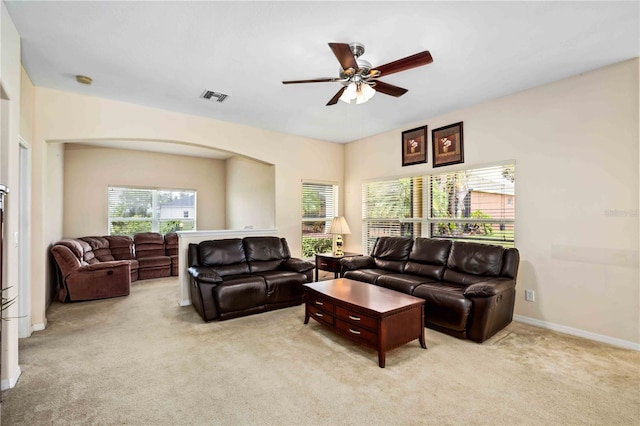
[[65,145],[65,238],[107,235],[109,186],[195,190],[198,229],[224,228],[224,160]]

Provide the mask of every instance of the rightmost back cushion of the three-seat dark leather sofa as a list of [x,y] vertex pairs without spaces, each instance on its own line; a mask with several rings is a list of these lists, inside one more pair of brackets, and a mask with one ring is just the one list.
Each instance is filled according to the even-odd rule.
[[[481,280],[483,276],[497,277],[502,271],[504,252],[505,248],[500,246],[454,241],[444,279],[471,284]],[[449,273],[450,271],[453,273]]]

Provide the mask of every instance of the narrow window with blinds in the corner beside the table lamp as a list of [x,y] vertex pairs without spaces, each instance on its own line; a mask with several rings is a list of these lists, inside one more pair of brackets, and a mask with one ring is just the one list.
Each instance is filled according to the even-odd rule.
[[302,183],[302,257],[330,252],[333,236],[327,234],[338,212],[338,186]]

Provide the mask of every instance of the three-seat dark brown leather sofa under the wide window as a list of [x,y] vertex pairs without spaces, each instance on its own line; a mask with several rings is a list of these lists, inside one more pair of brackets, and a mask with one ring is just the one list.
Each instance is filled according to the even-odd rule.
[[425,326],[479,343],[513,319],[519,262],[515,248],[406,237],[340,260],[345,278],[423,298]]

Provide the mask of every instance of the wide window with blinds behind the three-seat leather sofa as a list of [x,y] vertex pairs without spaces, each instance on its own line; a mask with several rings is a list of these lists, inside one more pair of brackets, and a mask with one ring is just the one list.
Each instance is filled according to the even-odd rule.
[[513,247],[514,198],[513,164],[365,183],[363,248],[383,235]]

